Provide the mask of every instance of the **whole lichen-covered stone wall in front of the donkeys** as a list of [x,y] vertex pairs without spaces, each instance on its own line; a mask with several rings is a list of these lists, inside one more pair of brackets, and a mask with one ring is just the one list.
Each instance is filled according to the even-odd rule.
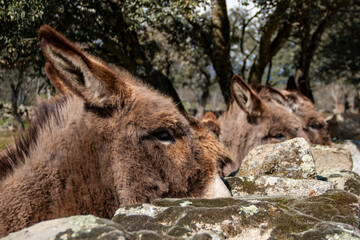
[[158,199],[112,220],[72,216],[4,239],[360,239],[354,154],[302,138],[259,146],[227,178],[231,198]]

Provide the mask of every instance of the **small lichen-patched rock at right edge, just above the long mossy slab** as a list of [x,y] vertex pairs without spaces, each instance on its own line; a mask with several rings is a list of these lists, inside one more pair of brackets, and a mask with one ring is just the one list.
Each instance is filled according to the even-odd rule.
[[360,176],[351,171],[326,171],[322,176],[333,183],[337,189],[351,192],[360,197]]

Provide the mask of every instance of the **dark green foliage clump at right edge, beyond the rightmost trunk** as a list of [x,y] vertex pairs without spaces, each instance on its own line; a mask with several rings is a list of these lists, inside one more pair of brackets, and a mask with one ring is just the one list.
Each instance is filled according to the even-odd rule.
[[314,68],[325,82],[360,83],[360,6],[342,12],[329,28],[316,56]]

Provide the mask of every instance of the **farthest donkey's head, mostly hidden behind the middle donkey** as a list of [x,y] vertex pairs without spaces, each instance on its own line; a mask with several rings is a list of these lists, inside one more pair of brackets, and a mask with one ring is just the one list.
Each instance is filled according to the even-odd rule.
[[[296,114],[303,122],[304,131],[313,144],[330,145],[331,138],[327,123],[314,104],[305,97],[300,90],[279,90],[263,85],[252,86],[265,100],[275,100],[291,112]],[[264,94],[265,93],[265,94]]]

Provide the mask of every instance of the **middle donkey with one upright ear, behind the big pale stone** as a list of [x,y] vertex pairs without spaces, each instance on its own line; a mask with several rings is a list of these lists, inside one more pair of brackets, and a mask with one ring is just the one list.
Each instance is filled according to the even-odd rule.
[[[227,176],[239,169],[242,159],[254,147],[295,137],[308,139],[301,120],[275,101],[265,101],[238,75],[231,83],[232,101],[219,118],[220,140],[234,160],[224,169]],[[264,93],[265,94],[265,93]]]

